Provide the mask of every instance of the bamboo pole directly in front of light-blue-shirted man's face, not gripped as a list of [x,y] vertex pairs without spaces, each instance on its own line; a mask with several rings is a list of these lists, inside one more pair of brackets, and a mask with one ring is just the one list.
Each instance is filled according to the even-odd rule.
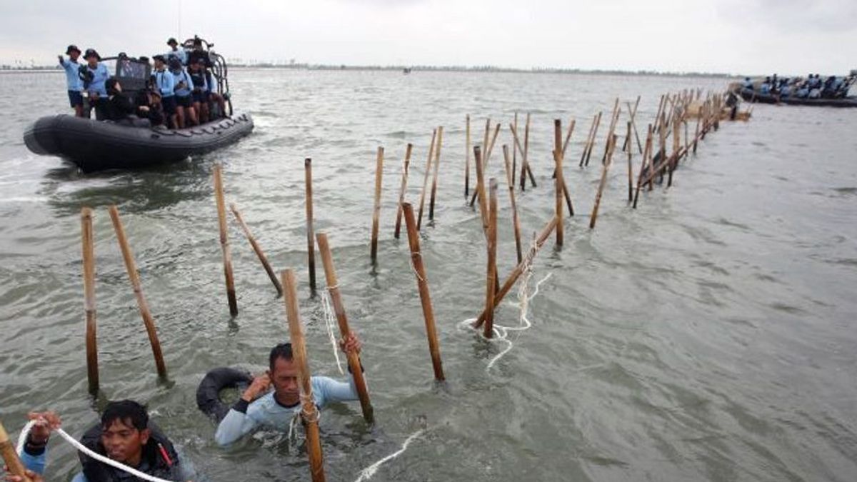
[[313,482],[324,482],[324,461],[321,455],[321,435],[319,433],[319,412],[313,401],[313,385],[310,381],[307,346],[303,341],[301,313],[297,306],[297,280],[295,272],[285,269],[280,277],[285,287],[285,316],[289,322],[291,352],[297,366],[297,375],[301,388],[301,416],[307,437],[309,454],[309,473]]

